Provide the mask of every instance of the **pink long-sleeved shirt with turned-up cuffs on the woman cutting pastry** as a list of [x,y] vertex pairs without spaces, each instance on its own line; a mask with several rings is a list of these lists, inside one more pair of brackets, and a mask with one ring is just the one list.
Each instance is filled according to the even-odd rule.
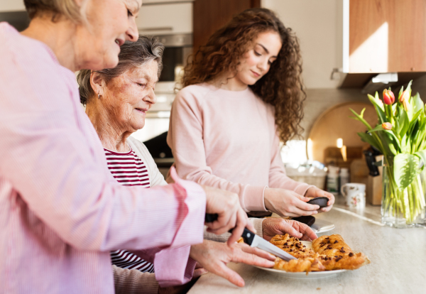
[[162,286],[189,281],[202,188],[116,183],[74,73],[7,23],[0,44],[0,293],[114,293],[121,248],[155,258]]

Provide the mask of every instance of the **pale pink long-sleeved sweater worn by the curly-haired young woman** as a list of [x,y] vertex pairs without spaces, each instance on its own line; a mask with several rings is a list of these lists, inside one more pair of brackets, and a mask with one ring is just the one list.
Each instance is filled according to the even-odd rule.
[[285,175],[273,111],[249,88],[201,84],[182,89],[168,132],[178,175],[236,192],[246,212],[266,211],[265,187],[304,195],[310,186]]

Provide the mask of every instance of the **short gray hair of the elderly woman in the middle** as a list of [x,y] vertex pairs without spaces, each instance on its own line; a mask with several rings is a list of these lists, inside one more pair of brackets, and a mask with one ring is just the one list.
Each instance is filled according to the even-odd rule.
[[[114,68],[96,70],[105,82],[109,82],[114,77],[124,74],[134,67],[141,67],[154,60],[158,63],[158,77],[163,69],[164,45],[158,38],[139,36],[136,42],[126,41],[121,45],[119,54],[119,64]],[[87,104],[87,99],[94,96],[94,91],[90,85],[90,74],[92,70],[80,70],[77,75],[77,82],[80,86],[80,102]]]

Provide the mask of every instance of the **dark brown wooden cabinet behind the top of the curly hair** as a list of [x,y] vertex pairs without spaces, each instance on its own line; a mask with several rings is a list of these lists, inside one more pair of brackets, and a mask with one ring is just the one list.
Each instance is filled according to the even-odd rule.
[[207,43],[212,33],[236,13],[256,7],[261,7],[261,0],[195,0],[194,50]]

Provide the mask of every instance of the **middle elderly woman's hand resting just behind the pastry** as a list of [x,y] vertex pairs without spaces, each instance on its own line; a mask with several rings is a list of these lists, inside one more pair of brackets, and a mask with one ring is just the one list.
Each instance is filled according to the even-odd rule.
[[268,217],[262,222],[263,239],[271,240],[275,235],[290,234],[302,241],[312,241],[317,239],[317,235],[307,224],[296,222],[291,219],[280,217]]

